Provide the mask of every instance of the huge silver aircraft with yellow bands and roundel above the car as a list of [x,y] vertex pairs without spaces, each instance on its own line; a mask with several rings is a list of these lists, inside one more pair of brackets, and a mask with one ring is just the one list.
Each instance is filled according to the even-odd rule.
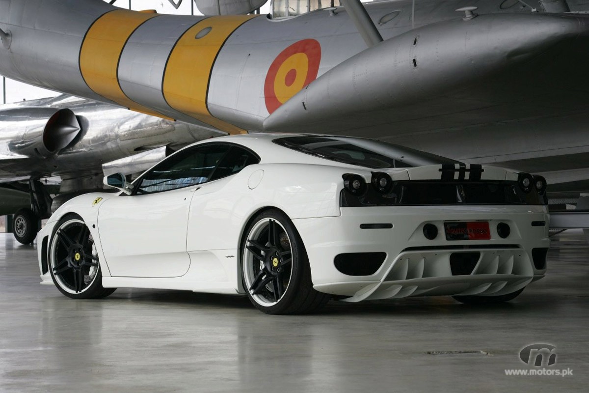
[[342,7],[272,19],[0,0],[0,74],[227,133],[366,136],[547,171],[589,155],[589,17],[584,0],[523,4],[416,0],[412,29],[410,0],[374,2],[383,42],[368,48]]

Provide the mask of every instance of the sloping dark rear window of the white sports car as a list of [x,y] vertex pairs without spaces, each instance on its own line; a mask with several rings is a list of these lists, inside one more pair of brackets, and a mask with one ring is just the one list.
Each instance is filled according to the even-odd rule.
[[371,169],[458,163],[425,151],[364,138],[300,136],[277,138],[273,142],[326,160]]

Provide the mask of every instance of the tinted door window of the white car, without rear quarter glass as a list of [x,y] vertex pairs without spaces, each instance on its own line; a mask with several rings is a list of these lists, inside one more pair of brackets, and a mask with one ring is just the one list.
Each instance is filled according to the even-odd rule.
[[153,194],[206,183],[230,149],[229,144],[207,144],[174,154],[141,177],[135,193]]

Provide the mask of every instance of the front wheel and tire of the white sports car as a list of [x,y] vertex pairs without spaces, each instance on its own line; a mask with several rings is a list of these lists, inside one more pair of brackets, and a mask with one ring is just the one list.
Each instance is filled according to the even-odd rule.
[[48,259],[55,286],[68,298],[100,299],[115,291],[102,286],[94,239],[78,214],[67,214],[55,225]]

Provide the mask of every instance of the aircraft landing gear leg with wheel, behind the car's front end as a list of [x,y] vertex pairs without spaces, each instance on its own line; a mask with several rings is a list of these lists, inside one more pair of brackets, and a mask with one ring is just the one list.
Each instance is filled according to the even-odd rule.
[[12,216],[15,239],[24,245],[31,244],[39,229],[41,219],[51,216],[51,196],[39,180],[29,180],[31,209],[20,209]]

